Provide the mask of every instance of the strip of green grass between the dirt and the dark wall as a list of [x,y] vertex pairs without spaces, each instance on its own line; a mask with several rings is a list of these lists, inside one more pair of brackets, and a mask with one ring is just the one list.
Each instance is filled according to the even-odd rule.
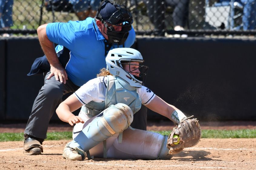
[[[154,131],[162,135],[169,135],[171,131]],[[255,130],[202,130],[202,138],[256,138]],[[0,142],[22,141],[23,133],[0,133]],[[72,140],[72,132],[47,133],[46,140]]]

